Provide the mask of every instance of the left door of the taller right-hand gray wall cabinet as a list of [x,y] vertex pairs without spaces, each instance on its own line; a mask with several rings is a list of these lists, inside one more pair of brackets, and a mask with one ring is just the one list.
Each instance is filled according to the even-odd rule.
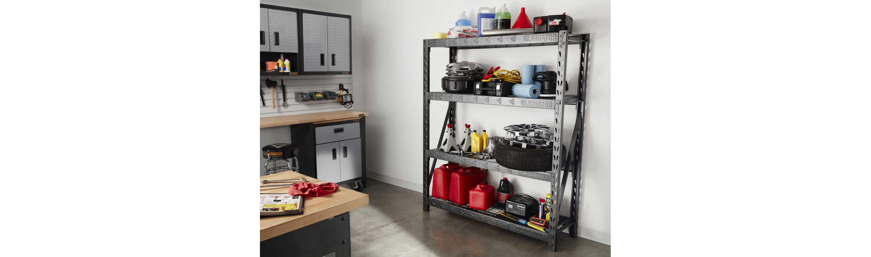
[[327,71],[327,16],[302,14],[302,71]]

